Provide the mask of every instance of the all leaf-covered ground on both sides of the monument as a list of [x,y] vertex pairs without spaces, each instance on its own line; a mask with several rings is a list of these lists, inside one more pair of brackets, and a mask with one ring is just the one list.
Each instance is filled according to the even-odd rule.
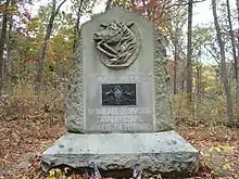
[[[46,104],[34,111],[32,104],[14,105],[0,115],[0,178],[47,178],[40,171],[41,153],[65,132],[63,112]],[[193,178],[239,178],[239,129],[179,125],[176,130],[201,151]]]

